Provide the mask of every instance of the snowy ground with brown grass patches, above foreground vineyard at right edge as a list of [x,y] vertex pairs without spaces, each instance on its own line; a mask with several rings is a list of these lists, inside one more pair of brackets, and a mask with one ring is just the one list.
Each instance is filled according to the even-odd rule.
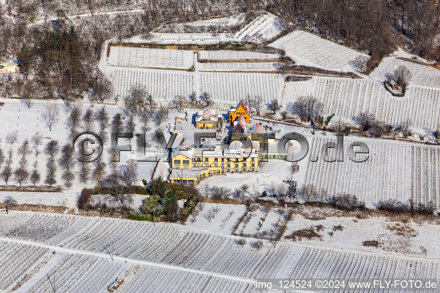
[[[301,241],[297,240],[297,242],[348,250],[402,253],[440,259],[440,246],[435,240],[436,235],[440,233],[440,226],[435,224],[422,223],[422,226],[419,226],[417,223],[411,222],[405,228],[402,222],[389,221],[386,217],[369,217],[367,219],[327,217],[324,220],[313,221],[305,219],[301,215],[295,215],[293,220],[288,223],[284,236],[312,226],[316,231],[318,225],[323,225],[323,228],[317,231],[319,237],[311,240],[302,238]],[[334,226],[339,225],[343,227],[341,228],[342,231],[334,229]],[[394,226],[395,230],[392,229]],[[411,229],[414,229],[414,231]],[[330,235],[331,232],[333,232],[333,235]],[[362,242],[366,240],[377,240],[380,246],[378,248],[363,246]],[[426,254],[423,249],[426,249]]]

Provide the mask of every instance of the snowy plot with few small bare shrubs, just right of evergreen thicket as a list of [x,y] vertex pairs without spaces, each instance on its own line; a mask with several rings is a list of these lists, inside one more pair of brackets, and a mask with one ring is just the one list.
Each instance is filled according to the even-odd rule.
[[[203,215],[216,206],[218,206],[219,212],[216,213],[215,217],[209,222],[209,220]],[[202,232],[216,232],[224,235],[231,235],[233,232],[232,227],[245,212],[246,207],[244,205],[206,203],[203,211],[198,207],[196,207],[196,209],[199,210],[199,214],[198,216],[195,216],[195,221],[191,223],[191,219],[194,219],[194,217],[189,216],[185,222],[188,228]]]

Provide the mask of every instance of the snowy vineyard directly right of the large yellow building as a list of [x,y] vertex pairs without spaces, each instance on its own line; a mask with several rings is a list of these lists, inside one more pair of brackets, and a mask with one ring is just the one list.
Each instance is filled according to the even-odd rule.
[[[320,152],[329,141],[323,137],[313,139],[310,156],[319,159],[308,162],[306,184],[314,184],[329,195],[356,195],[368,206],[387,199],[402,203],[414,199],[416,204],[432,202],[434,206],[440,203],[440,148],[370,141],[366,162],[355,163],[345,157],[343,162],[328,163],[320,158]],[[346,156],[354,141],[345,139]]]

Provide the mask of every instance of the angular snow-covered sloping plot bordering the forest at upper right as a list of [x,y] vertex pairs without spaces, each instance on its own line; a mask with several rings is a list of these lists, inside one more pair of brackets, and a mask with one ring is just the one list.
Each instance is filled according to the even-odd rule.
[[283,36],[270,46],[286,51],[286,54],[300,65],[335,71],[352,71],[353,66],[350,62],[361,54],[304,31],[295,31]]

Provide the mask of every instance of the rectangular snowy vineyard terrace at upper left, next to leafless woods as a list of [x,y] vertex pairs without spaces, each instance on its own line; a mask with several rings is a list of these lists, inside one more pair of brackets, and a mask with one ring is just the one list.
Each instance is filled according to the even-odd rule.
[[192,51],[111,46],[109,65],[188,69],[193,65]]

